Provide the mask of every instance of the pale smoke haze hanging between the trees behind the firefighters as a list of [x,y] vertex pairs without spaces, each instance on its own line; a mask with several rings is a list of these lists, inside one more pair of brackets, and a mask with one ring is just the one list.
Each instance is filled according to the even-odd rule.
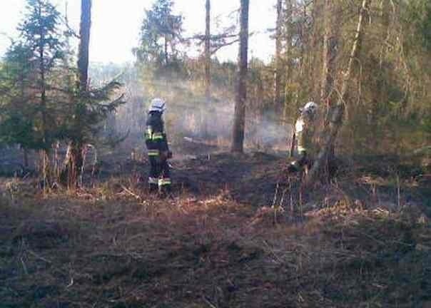
[[[121,106],[115,117],[106,123],[118,135],[128,133],[121,148],[145,151],[143,131],[145,129],[148,104],[153,97],[161,97],[167,102],[164,115],[166,132],[171,148],[177,152],[188,150],[189,143],[203,145],[203,151],[226,151],[232,138],[235,93],[233,87],[212,87],[212,101],[207,108],[201,82],[183,81],[176,78],[160,78],[145,86],[133,66],[126,68],[93,68],[92,80],[108,81],[122,73],[127,103]],[[103,73],[101,73],[103,72]],[[287,151],[292,135],[292,125],[275,120],[273,112],[247,112],[245,123],[245,150]],[[206,121],[207,135],[203,135],[203,121]],[[111,126],[111,127],[109,127]],[[113,127],[112,127],[113,126]],[[208,145],[208,147],[204,146]],[[193,153],[188,153],[193,154]],[[196,155],[202,153],[195,153]]]

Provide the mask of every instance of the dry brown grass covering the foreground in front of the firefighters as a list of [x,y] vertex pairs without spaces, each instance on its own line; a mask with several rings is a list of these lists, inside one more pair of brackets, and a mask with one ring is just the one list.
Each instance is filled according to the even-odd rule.
[[228,191],[158,200],[127,178],[5,193],[0,307],[429,307],[427,218],[337,191],[301,220]]

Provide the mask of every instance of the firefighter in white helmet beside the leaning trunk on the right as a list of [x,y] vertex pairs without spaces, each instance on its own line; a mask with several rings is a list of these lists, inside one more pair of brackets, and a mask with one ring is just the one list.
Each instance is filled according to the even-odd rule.
[[313,102],[308,102],[303,108],[300,108],[300,116],[295,123],[295,144],[293,155],[295,160],[290,164],[289,171],[297,172],[304,167],[310,167],[313,159],[314,146],[313,134],[315,130],[315,122],[318,113],[318,105]]

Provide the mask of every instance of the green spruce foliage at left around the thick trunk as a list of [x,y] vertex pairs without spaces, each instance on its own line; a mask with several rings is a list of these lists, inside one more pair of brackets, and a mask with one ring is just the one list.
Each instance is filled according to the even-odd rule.
[[93,142],[108,115],[124,103],[121,83],[77,91],[76,68],[64,56],[61,16],[47,0],[27,0],[21,41],[0,66],[0,143],[49,151],[56,141]]

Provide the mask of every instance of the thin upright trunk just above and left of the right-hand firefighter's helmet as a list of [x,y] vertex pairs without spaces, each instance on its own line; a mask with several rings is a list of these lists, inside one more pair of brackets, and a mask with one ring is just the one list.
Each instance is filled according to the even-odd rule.
[[283,0],[277,0],[277,21],[275,28],[275,78],[274,78],[274,106],[275,110],[280,110],[281,102],[281,25],[283,21]]

